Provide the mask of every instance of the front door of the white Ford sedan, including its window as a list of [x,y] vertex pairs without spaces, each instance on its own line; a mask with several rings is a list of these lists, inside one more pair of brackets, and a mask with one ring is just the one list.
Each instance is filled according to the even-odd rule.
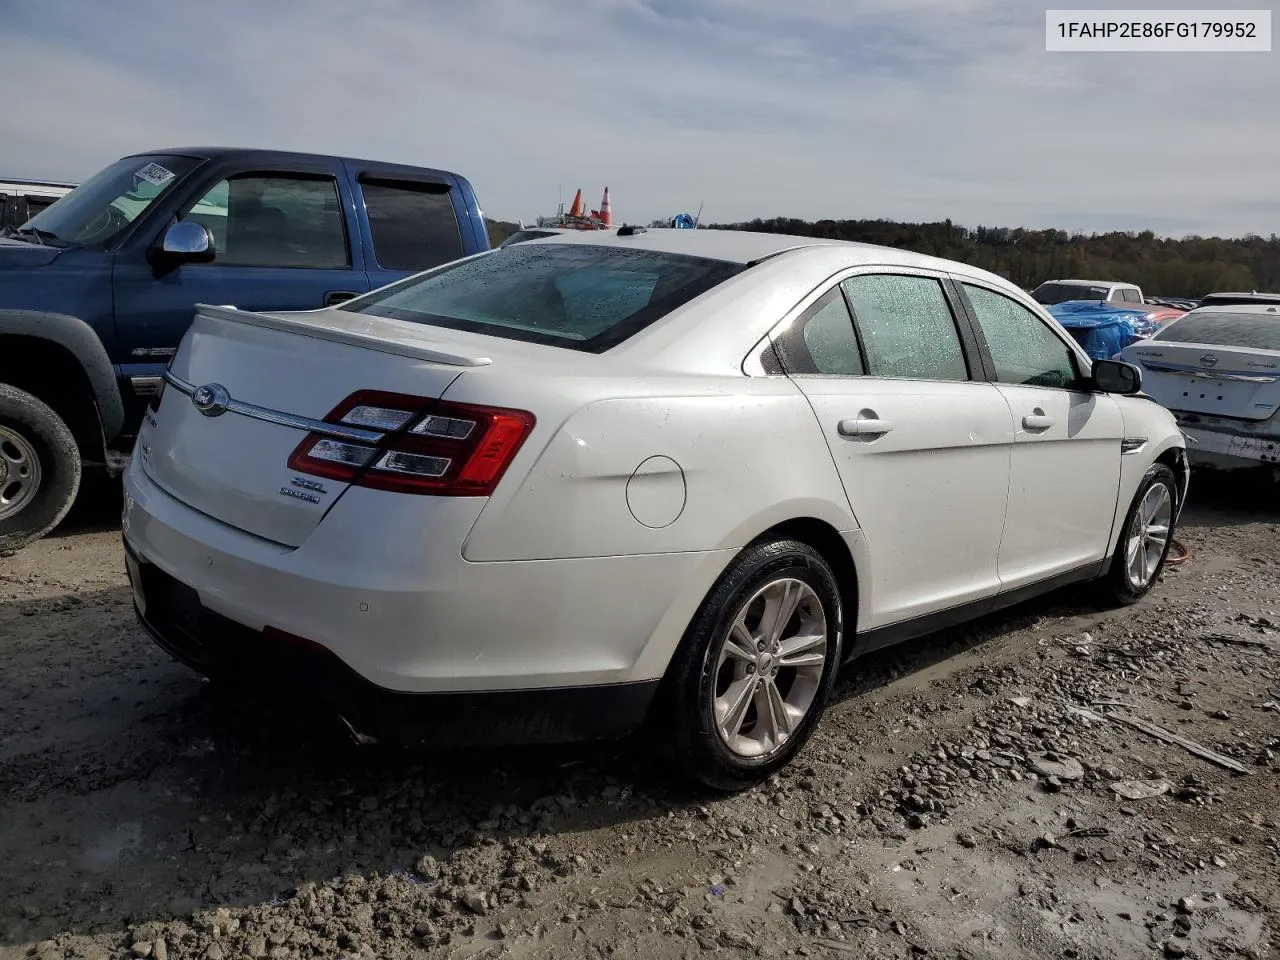
[[1088,361],[1029,307],[984,283],[957,280],[1016,429],[1000,544],[1002,588],[1078,572],[1103,559],[1110,541],[1120,406],[1088,388]]

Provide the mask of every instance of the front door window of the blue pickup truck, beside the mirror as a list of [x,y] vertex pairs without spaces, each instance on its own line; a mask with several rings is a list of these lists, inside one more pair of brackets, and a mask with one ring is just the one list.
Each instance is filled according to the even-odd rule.
[[219,266],[351,265],[332,177],[247,174],[220,180],[183,215],[214,234]]

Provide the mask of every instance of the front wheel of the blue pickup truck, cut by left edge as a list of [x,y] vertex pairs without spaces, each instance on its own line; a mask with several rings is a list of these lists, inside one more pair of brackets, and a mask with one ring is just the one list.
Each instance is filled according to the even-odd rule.
[[0,550],[38,540],[76,502],[76,438],[49,406],[0,384]]

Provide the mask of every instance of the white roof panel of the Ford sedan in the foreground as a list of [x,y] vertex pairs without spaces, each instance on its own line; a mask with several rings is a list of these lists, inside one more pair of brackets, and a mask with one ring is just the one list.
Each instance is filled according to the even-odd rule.
[[[529,241],[529,243],[588,243],[658,253],[684,253],[744,265],[756,264],[794,250],[828,247],[847,252],[850,260],[858,262],[914,265],[933,270],[952,270],[960,266],[948,260],[913,253],[897,247],[823,239],[822,237],[796,237],[786,233],[753,233],[750,230],[645,228],[643,232],[622,236],[617,230],[571,230],[554,237]],[[965,266],[965,270],[973,273],[974,268]]]

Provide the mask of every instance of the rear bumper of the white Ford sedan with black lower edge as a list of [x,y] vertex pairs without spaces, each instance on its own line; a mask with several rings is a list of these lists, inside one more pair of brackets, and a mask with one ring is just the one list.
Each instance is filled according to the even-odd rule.
[[375,717],[515,717],[499,740],[634,727],[727,562],[707,552],[472,563],[460,545],[483,503],[362,489],[289,549],[187,507],[137,460],[124,493],[141,616],[179,659],[206,673],[230,663],[237,677]]

